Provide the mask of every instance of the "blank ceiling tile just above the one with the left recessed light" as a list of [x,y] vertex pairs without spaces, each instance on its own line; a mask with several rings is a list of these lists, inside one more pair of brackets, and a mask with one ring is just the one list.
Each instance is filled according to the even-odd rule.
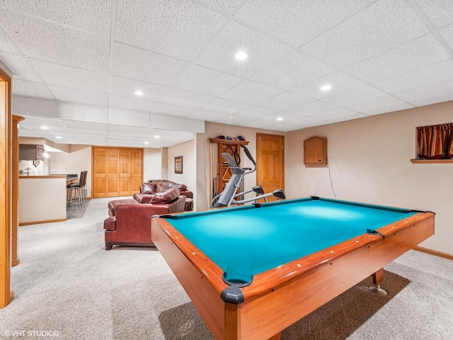
[[172,86],[188,66],[188,62],[115,42],[113,74],[116,76]]

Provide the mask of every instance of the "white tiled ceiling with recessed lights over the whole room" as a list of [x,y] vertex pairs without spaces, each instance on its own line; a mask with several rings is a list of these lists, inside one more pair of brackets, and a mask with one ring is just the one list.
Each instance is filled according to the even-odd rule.
[[285,132],[449,101],[452,49],[452,0],[0,2],[19,135],[60,143],[168,147],[203,121]]

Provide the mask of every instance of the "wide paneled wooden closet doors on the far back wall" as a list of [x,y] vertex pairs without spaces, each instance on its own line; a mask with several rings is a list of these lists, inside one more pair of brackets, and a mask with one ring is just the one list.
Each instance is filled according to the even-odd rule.
[[93,147],[93,198],[130,196],[143,183],[143,149]]

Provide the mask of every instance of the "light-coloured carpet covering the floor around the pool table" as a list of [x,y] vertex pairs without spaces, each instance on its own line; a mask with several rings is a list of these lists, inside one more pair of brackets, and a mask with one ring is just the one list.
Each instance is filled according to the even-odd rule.
[[[16,297],[0,310],[0,336],[213,339],[156,248],[105,251],[103,220],[113,199],[91,200],[77,220],[19,228]],[[409,251],[385,269],[389,295],[370,293],[367,279],[285,329],[282,339],[453,339],[453,261]]]

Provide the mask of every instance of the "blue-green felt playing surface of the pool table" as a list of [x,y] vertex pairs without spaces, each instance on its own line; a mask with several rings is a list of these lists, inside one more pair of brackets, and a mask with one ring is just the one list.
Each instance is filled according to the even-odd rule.
[[327,198],[299,198],[168,217],[233,283],[414,215]]

